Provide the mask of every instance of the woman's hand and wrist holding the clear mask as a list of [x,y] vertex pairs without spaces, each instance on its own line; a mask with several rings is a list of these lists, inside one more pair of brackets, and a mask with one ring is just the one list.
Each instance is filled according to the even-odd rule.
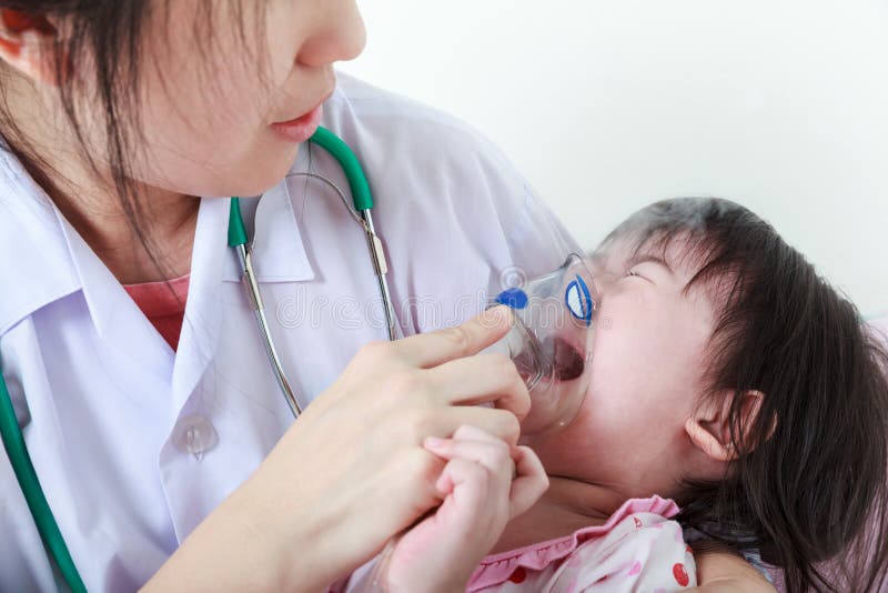
[[317,591],[367,561],[441,502],[445,462],[423,449],[427,436],[470,424],[517,442],[524,382],[505,356],[472,356],[511,322],[496,308],[361,349],[150,584]]

